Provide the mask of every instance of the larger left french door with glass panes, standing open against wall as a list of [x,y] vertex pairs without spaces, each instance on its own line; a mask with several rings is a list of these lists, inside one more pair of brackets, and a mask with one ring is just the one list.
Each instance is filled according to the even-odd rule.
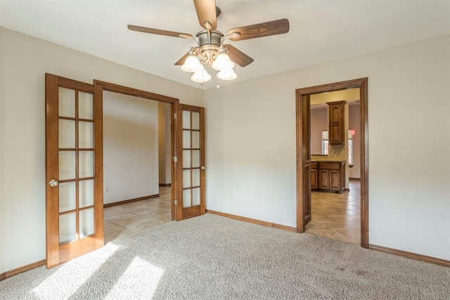
[[46,267],[103,246],[103,116],[94,86],[46,74]]

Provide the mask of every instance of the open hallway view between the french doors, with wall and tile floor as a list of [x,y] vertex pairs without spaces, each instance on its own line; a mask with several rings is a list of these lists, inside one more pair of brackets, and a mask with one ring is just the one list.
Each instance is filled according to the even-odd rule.
[[170,104],[103,92],[105,244],[172,220]]

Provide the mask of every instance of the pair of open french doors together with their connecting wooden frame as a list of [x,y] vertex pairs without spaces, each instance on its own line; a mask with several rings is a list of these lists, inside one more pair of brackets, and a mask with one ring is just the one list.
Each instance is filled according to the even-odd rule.
[[[103,90],[171,103],[172,216],[205,214],[205,108],[46,74],[46,266],[103,246]],[[94,92],[95,91],[95,92]]]

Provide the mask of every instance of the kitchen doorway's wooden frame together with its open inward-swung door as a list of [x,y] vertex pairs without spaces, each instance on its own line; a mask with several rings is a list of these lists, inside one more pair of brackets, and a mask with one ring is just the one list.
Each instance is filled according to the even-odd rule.
[[[297,232],[305,232],[311,221],[311,96],[359,88],[360,113],[360,228],[361,246],[368,248],[368,78],[296,89],[297,123]],[[314,182],[313,182],[314,183]]]

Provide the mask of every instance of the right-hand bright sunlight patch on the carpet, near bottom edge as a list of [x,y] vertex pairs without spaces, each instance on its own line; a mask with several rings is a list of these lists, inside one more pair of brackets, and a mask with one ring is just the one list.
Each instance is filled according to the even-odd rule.
[[134,299],[134,296],[141,297],[143,294],[150,299],[155,294],[163,273],[164,270],[161,268],[140,257],[135,257],[105,299],[117,299],[117,296]]

